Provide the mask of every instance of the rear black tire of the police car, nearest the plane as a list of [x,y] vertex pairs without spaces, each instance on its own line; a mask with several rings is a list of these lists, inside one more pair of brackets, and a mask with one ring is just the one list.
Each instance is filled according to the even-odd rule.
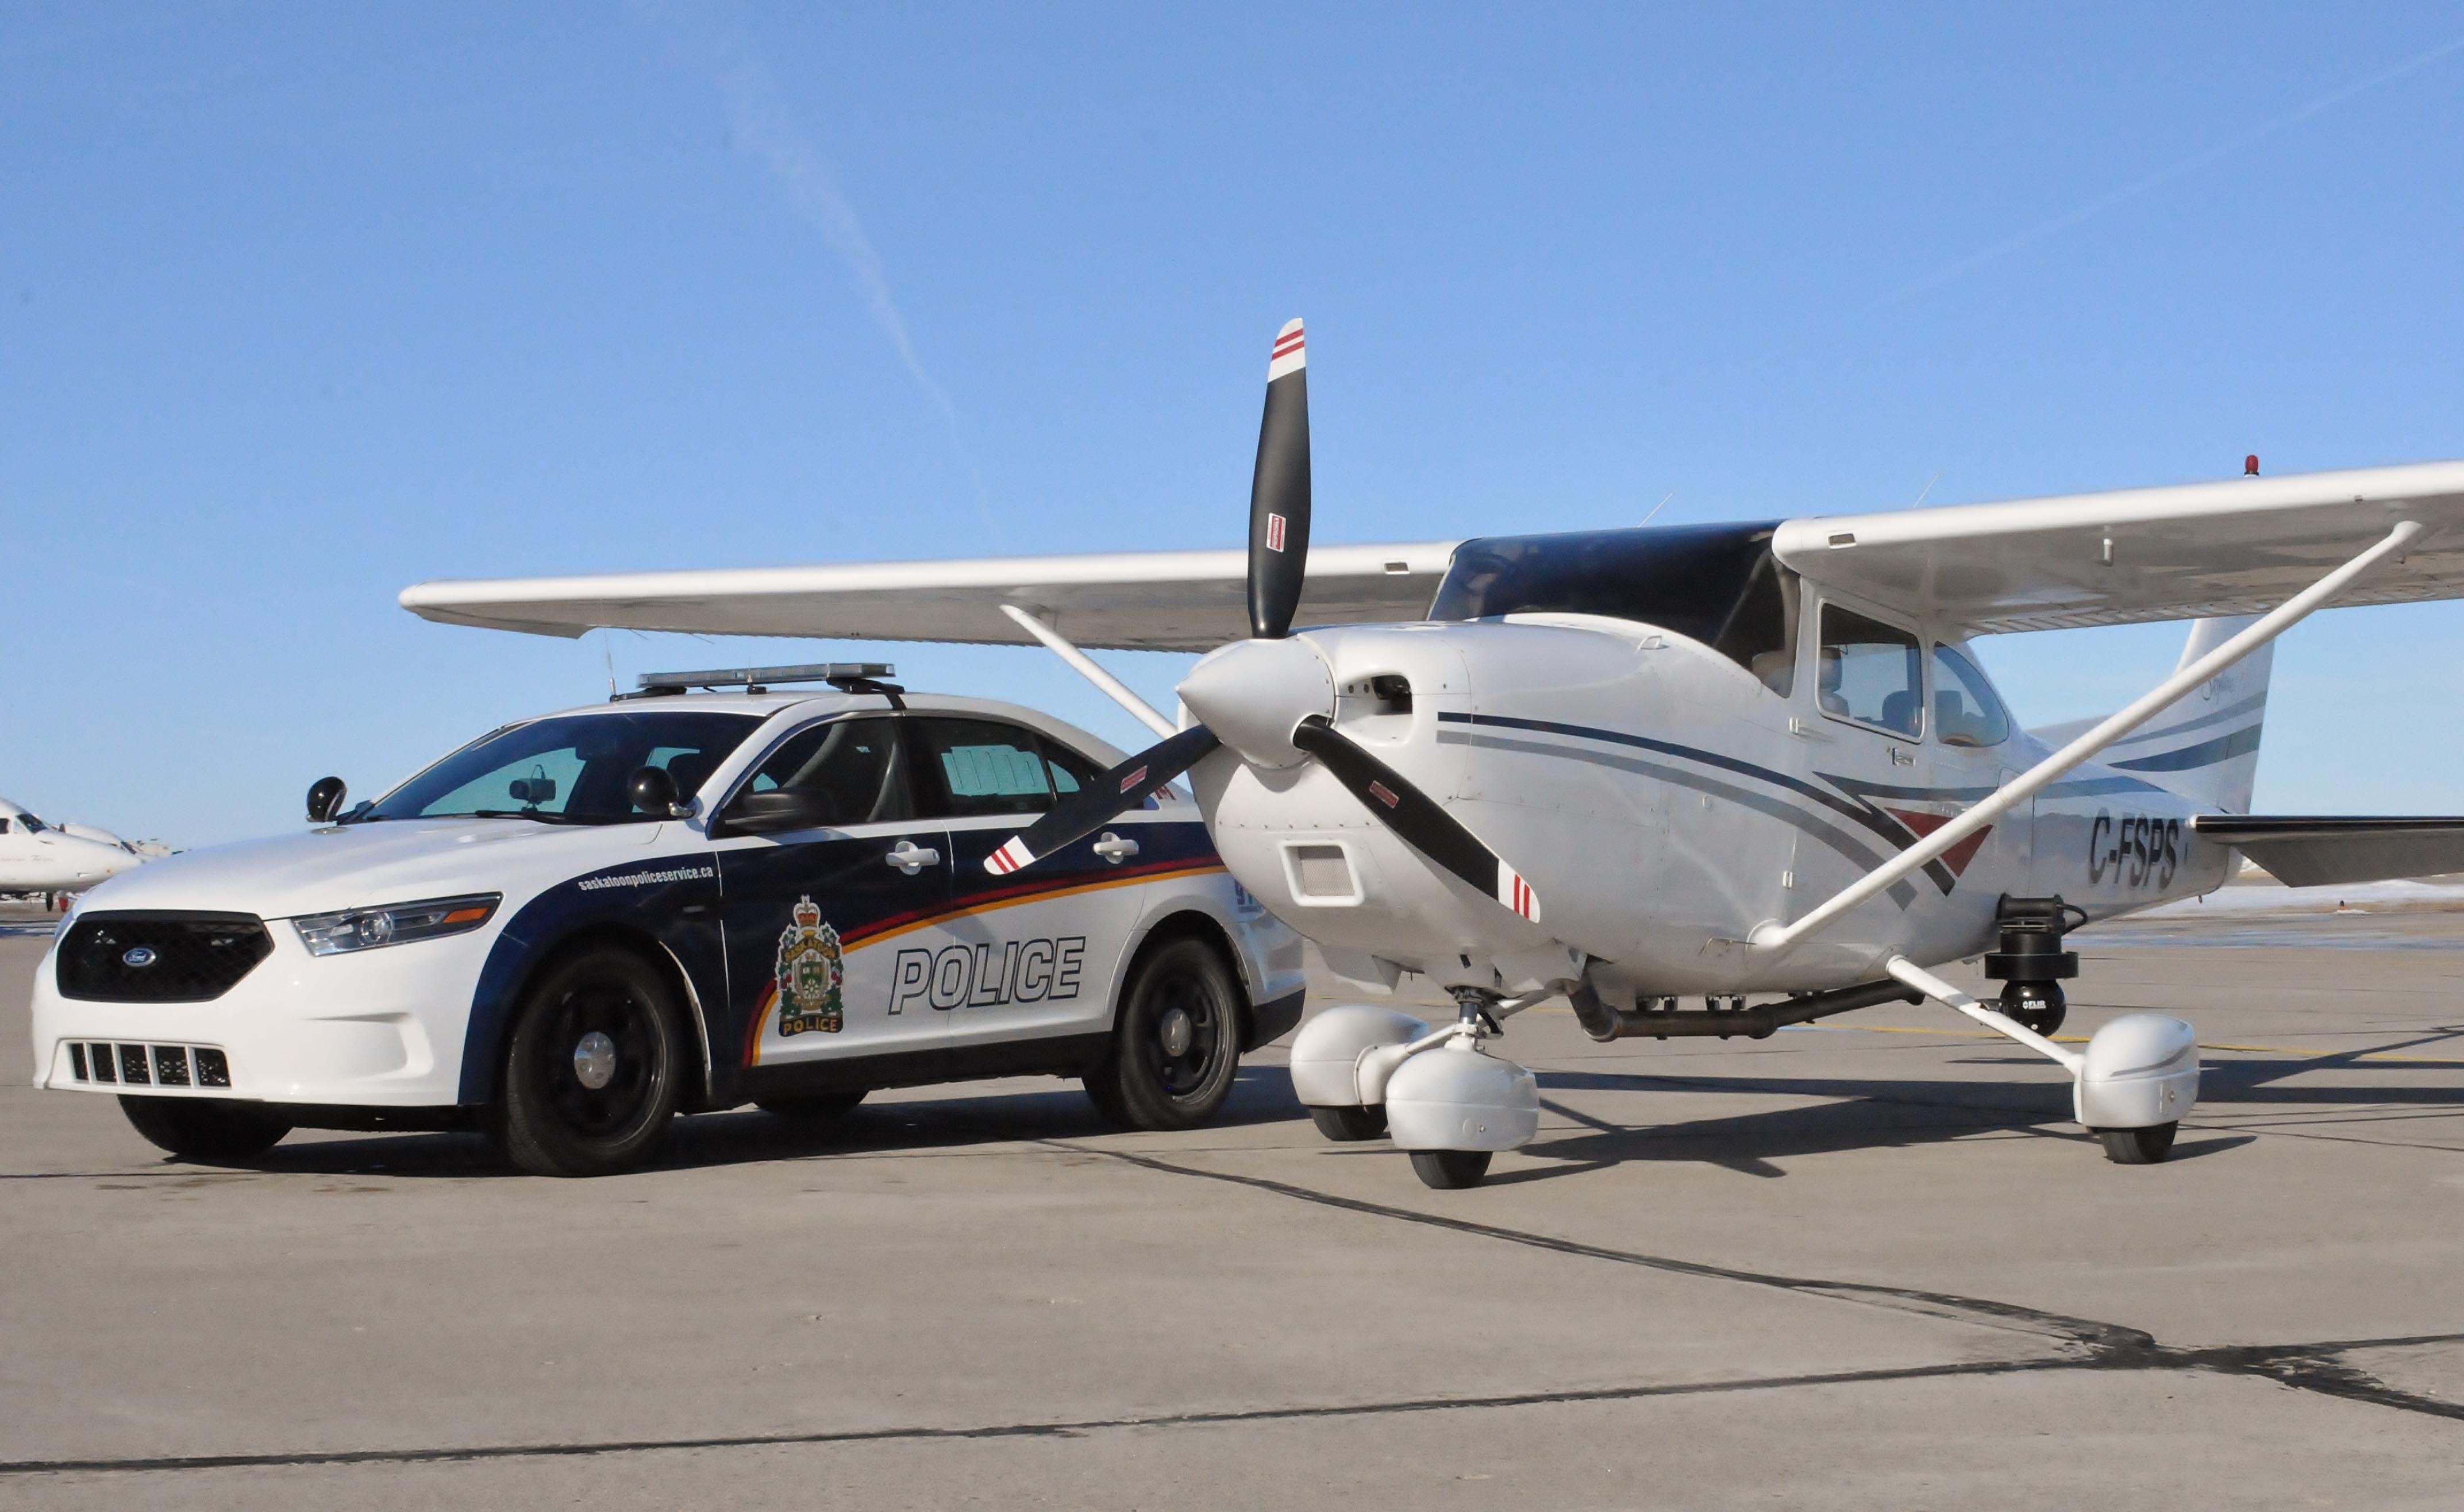
[[1119,1128],[1198,1128],[1222,1111],[1239,1071],[1242,990],[1205,941],[1178,938],[1138,958],[1111,1047],[1087,1096]]

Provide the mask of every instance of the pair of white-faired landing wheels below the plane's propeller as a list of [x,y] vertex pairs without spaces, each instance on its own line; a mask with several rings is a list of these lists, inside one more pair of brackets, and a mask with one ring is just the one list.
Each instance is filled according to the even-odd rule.
[[1390,1133],[1424,1184],[1476,1187],[1491,1155],[1540,1133],[1540,1084],[1481,1042],[1503,1034],[1498,1019],[1542,997],[1456,987],[1456,1019],[1441,1032],[1387,1007],[1331,1007],[1291,1044],[1291,1088],[1326,1138]]

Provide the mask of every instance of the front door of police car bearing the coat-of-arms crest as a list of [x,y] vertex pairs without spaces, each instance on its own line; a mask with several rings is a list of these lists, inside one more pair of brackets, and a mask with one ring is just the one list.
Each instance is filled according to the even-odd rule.
[[781,741],[719,808],[729,1022],[747,1066],[929,1049],[897,938],[949,909],[949,835],[917,815],[899,719]]

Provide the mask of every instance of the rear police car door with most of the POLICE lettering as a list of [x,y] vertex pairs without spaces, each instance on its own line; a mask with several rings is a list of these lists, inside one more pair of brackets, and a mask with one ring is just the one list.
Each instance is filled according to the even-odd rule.
[[917,788],[949,832],[956,909],[897,943],[897,992],[949,1027],[954,1049],[993,1039],[1084,1034],[1111,1024],[1114,978],[1138,923],[1143,815],[1025,872],[993,877],[983,859],[1094,781],[1094,763],[1032,729],[995,719],[909,722]]

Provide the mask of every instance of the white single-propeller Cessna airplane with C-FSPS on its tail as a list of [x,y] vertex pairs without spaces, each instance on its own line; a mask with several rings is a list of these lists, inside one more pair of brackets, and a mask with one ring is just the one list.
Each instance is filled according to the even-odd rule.
[[[1769,1034],[1932,997],[2060,1061],[2119,1162],[2198,1096],[2181,1019],[2055,1044],[2062,936],[2210,891],[2464,869],[2464,820],[2250,818],[2269,643],[2326,603],[2464,596],[2464,463],[1759,525],[1308,549],[1301,323],[1266,369],[1247,552],[439,581],[431,621],[1042,643],[1161,739],[991,857],[1188,773],[1232,874],[1335,970],[1419,973],[1432,1032],[1335,1007],[1294,1042],[1331,1138],[1471,1184],[1538,1128],[1498,1019]],[[2013,729],[1971,635],[2190,621],[2109,719]],[[1291,625],[1308,625],[1294,630]],[[1087,648],[1210,650],[1183,719]],[[1981,1005],[1934,968],[1984,955]],[[1784,995],[1747,1007],[1747,995]],[[1703,997],[1680,1010],[1680,997]]]

